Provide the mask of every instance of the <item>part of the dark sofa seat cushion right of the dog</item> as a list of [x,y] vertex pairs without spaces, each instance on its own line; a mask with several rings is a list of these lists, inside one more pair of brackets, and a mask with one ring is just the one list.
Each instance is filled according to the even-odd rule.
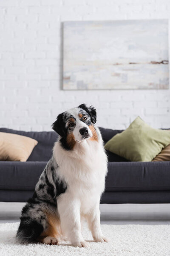
[[170,190],[170,161],[108,163],[105,190]]

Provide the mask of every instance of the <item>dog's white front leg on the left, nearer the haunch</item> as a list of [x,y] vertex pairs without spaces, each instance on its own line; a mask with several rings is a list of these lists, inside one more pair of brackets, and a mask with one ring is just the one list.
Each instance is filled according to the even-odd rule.
[[70,239],[73,246],[87,247],[88,242],[81,234],[80,202],[70,198],[68,194],[63,194],[57,200],[57,207],[62,233]]

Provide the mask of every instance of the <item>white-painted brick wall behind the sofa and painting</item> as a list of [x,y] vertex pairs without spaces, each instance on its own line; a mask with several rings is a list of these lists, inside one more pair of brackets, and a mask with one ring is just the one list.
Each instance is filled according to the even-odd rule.
[[51,130],[60,112],[85,102],[106,128],[138,115],[170,128],[170,90],[61,89],[62,21],[169,17],[169,0],[0,0],[0,126]]

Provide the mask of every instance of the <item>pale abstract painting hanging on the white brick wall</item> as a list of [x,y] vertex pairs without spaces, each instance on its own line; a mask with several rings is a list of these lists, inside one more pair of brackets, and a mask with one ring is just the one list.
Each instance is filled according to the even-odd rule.
[[69,21],[63,89],[167,89],[168,20]]

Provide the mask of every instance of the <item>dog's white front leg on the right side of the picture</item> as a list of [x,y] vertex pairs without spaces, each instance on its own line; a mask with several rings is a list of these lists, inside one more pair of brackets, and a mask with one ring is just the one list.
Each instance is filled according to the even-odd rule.
[[102,234],[100,227],[100,210],[99,205],[96,205],[87,215],[88,227],[91,230],[95,242],[108,242]]

